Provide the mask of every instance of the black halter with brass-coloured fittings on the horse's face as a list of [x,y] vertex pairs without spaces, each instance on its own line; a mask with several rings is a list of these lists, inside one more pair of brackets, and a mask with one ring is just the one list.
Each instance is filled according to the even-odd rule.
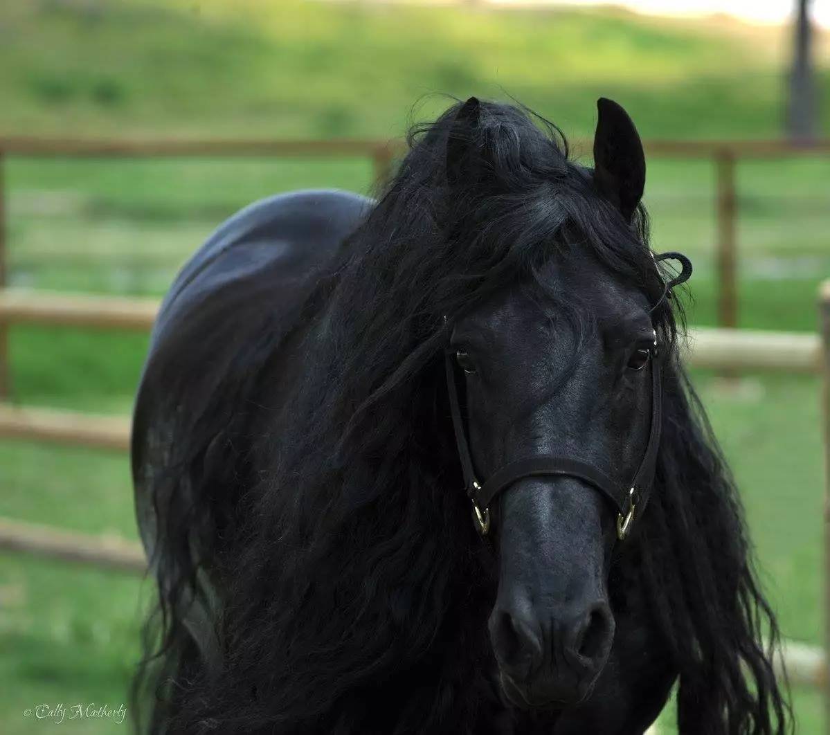
[[[681,272],[675,278],[665,282],[663,291],[652,311],[671,294],[671,289],[689,279],[691,275],[691,261],[680,253],[667,252],[653,256],[655,264],[661,260],[677,260],[681,264]],[[473,518],[476,528],[482,536],[490,531],[490,504],[510,485],[525,477],[559,475],[576,477],[591,485],[593,489],[602,493],[617,510],[617,537],[623,541],[631,531],[634,521],[634,511],[638,514],[646,508],[654,482],[654,473],[657,468],[657,450],[660,446],[660,431],[662,421],[662,385],[660,381],[660,364],[657,356],[657,334],[654,338],[654,350],[651,363],[652,369],[652,422],[648,434],[648,444],[643,454],[637,473],[630,483],[621,484],[612,479],[597,467],[588,465],[582,460],[560,455],[535,455],[525,459],[515,460],[500,467],[486,481],[481,484],[476,479],[473,467],[470,446],[467,444],[464,421],[461,418],[461,404],[458,400],[456,371],[452,362],[452,350],[447,347],[444,352],[444,368],[447,373],[447,393],[450,399],[450,413],[452,427],[456,435],[458,457],[461,460],[461,471],[464,474],[467,497],[472,502]]]

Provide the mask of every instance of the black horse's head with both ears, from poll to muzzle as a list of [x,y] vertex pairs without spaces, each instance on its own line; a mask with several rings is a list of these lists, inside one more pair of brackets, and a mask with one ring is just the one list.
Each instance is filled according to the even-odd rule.
[[[629,232],[642,256],[630,224],[642,144],[623,108],[598,109],[595,168],[568,173],[580,205],[601,212],[608,231]],[[447,176],[451,190],[489,189],[497,201],[510,196],[510,176],[488,148],[498,120],[486,118],[475,98],[458,110]],[[536,187],[528,198],[538,196]],[[537,206],[554,221],[569,214],[553,196]],[[651,491],[660,438],[657,261],[651,279],[626,278],[580,246],[586,235],[570,220],[533,279],[494,290],[449,327],[457,448],[475,522],[498,556],[491,643],[505,694],[523,708],[580,703],[602,672],[614,636],[610,560]]]

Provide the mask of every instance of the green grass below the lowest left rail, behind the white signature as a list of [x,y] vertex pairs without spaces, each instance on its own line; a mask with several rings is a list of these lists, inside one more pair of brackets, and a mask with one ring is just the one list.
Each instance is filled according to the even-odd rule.
[[[26,717],[27,708],[126,702],[139,654],[139,582],[127,577],[0,560],[0,711],[7,735],[129,732],[127,723]],[[7,598],[7,599],[6,599]],[[8,601],[7,601],[8,600]]]

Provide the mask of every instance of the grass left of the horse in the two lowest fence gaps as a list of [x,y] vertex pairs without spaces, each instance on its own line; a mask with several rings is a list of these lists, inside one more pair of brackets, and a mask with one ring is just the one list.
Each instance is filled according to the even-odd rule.
[[[3,442],[0,485],[4,518],[136,538],[123,455]],[[54,723],[23,716],[37,704],[125,702],[149,599],[146,586],[141,592],[138,580],[122,574],[0,556],[3,733],[53,732]],[[67,719],[59,729],[80,735],[118,727]]]

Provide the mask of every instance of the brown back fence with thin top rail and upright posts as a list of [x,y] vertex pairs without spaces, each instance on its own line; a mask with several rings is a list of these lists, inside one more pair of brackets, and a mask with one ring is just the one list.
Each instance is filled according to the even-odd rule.
[[[589,146],[582,144],[584,150]],[[737,286],[737,186],[736,164],[745,158],[780,158],[830,153],[830,140],[794,145],[784,140],[688,141],[650,140],[649,156],[699,158],[715,163],[717,179],[715,217],[717,221],[716,270],[718,276],[718,324],[738,325]],[[8,283],[6,255],[6,196],[4,160],[8,156],[64,158],[369,158],[378,180],[388,178],[393,162],[403,153],[401,140],[84,140],[0,138],[0,289]],[[0,398],[11,393],[7,326],[0,324]]]

